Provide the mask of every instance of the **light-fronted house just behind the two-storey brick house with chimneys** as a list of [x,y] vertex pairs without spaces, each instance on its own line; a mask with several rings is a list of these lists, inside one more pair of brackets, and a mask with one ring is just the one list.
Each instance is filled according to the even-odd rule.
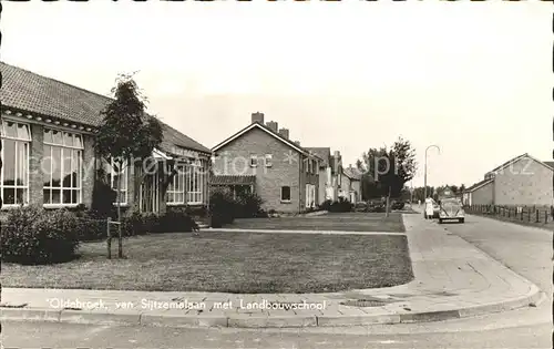
[[342,175],[342,158],[339,151],[331,155],[330,147],[307,147],[309,152],[321,158],[319,163],[318,204],[325,201],[337,201]]

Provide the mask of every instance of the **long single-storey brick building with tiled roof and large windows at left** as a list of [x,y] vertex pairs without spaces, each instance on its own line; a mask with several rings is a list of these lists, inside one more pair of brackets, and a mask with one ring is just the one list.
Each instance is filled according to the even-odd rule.
[[[206,205],[209,148],[162,123],[163,142],[152,154],[157,166],[144,181],[134,181],[135,167],[120,173],[94,151],[101,111],[112,99],[6,63],[0,70],[2,209],[90,206],[103,164],[112,187],[123,176],[123,207],[164,213],[171,205]],[[177,172],[173,177],[164,171],[170,163]]]

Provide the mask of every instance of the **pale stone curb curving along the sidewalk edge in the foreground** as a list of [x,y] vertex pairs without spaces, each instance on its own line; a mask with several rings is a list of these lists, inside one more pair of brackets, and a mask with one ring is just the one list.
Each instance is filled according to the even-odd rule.
[[83,310],[55,310],[40,308],[0,308],[1,320],[47,321],[88,325],[124,325],[153,327],[196,327],[196,328],[305,328],[305,327],[346,327],[370,325],[397,325],[433,322],[451,319],[469,318],[480,315],[502,312],[538,304],[545,297],[533,285],[522,296],[506,301],[491,302],[475,307],[451,310],[421,311],[413,314],[383,315],[343,315],[343,316],[191,316],[191,315],[154,315],[141,312],[100,312]]

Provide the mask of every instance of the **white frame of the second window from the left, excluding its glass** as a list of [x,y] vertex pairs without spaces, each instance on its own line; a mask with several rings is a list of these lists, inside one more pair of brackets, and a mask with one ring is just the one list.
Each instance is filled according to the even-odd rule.
[[[62,129],[57,129],[57,127],[43,127],[42,130],[42,134],[43,136],[47,134],[47,131],[50,131],[50,132],[60,132],[62,135],[61,135],[61,141],[60,143],[55,143],[53,141],[53,137],[52,137],[52,142],[48,142],[45,141],[44,138],[42,140],[42,148],[43,148],[43,156],[45,155],[45,146],[49,146],[50,147],[50,174],[43,174],[43,181],[42,181],[42,195],[44,197],[44,192],[45,191],[49,191],[50,192],[50,202],[47,203],[47,201],[43,201],[43,206],[49,208],[49,207],[74,207],[74,206],[78,206],[80,204],[83,203],[83,172],[84,172],[84,166],[83,166],[83,155],[84,155],[84,140],[83,140],[83,134],[82,133],[79,133],[79,132],[73,132],[73,131],[68,131],[68,130],[62,130]],[[72,136],[72,138],[76,138],[76,136],[79,136],[80,138],[80,145],[66,145],[64,144],[64,136],[65,134],[70,134]],[[52,179],[53,179],[53,162],[52,162],[52,154],[53,154],[53,151],[54,148],[60,148],[60,186],[59,187],[54,187],[52,186]],[[76,168],[76,174],[78,174],[78,177],[79,177],[79,181],[78,181],[78,186],[71,186],[71,187],[65,187],[63,186],[63,175],[64,175],[64,150],[70,150],[71,151],[71,167],[73,166],[73,154],[76,153],[76,166],[79,168]],[[73,174],[73,172],[71,173]],[[49,182],[50,182],[50,186],[45,186],[44,185],[44,176],[49,176]],[[71,177],[71,184],[73,184],[73,177]],[[52,203],[52,198],[53,198],[53,191],[60,191],[60,202],[59,203]],[[76,195],[76,203],[63,203],[63,193],[64,191],[76,191],[78,192],[78,195]]]

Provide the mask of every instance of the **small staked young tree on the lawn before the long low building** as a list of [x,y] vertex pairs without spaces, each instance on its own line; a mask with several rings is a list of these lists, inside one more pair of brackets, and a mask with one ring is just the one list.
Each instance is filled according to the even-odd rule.
[[[142,95],[134,74],[120,74],[112,89],[114,100],[102,111],[103,122],[96,134],[96,151],[120,174],[117,176],[117,220],[121,222],[121,174],[125,167],[141,163],[152,155],[162,142],[162,125],[145,113],[146,99]],[[121,224],[119,225],[121,236]],[[120,245],[121,246],[121,245]],[[122,252],[120,248],[120,257]]]

